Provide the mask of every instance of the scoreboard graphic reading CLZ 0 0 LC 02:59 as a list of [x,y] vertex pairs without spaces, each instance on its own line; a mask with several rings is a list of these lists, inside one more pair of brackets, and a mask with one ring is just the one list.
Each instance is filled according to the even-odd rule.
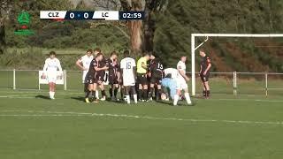
[[41,11],[41,19],[141,20],[144,11]]

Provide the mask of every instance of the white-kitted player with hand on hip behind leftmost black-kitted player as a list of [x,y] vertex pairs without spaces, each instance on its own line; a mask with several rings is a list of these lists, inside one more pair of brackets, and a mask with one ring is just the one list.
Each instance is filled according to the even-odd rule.
[[82,71],[82,83],[84,84],[84,92],[85,93],[88,92],[87,74],[88,74],[89,64],[94,59],[94,56],[92,54],[93,54],[92,49],[88,49],[87,54],[84,55],[83,57],[80,57],[76,62],[76,65]]

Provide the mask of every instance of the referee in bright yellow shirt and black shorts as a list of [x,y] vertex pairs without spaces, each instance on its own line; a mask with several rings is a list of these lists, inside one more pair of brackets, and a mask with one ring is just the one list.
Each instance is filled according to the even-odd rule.
[[147,79],[147,62],[149,61],[150,55],[149,53],[145,53],[143,57],[141,57],[137,64],[137,84],[139,85],[138,95],[139,100],[142,102],[148,102],[148,79]]

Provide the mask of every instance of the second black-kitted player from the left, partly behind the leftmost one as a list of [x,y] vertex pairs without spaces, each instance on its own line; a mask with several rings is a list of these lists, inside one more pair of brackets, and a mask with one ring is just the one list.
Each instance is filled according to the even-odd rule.
[[104,82],[104,77],[105,77],[105,71],[108,70],[109,68],[108,60],[103,57],[101,62],[98,64],[98,68],[101,68],[103,70],[96,72],[96,84],[101,89],[102,98],[100,100],[105,101],[106,93],[105,93],[105,87],[104,87],[103,82]]

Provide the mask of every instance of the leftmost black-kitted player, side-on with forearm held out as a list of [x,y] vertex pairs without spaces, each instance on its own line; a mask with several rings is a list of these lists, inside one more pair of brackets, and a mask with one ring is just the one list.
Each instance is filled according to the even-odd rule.
[[96,58],[94,58],[91,63],[89,64],[89,69],[88,69],[88,75],[87,75],[87,80],[88,80],[88,92],[85,96],[85,101],[89,102],[88,96],[91,93],[92,97],[95,98],[94,102],[97,102],[96,99],[96,87],[97,87],[97,79],[96,79],[96,75],[97,72],[105,70],[106,68],[99,68],[99,63],[102,61],[103,59],[103,54],[102,53],[97,53],[96,54]]

